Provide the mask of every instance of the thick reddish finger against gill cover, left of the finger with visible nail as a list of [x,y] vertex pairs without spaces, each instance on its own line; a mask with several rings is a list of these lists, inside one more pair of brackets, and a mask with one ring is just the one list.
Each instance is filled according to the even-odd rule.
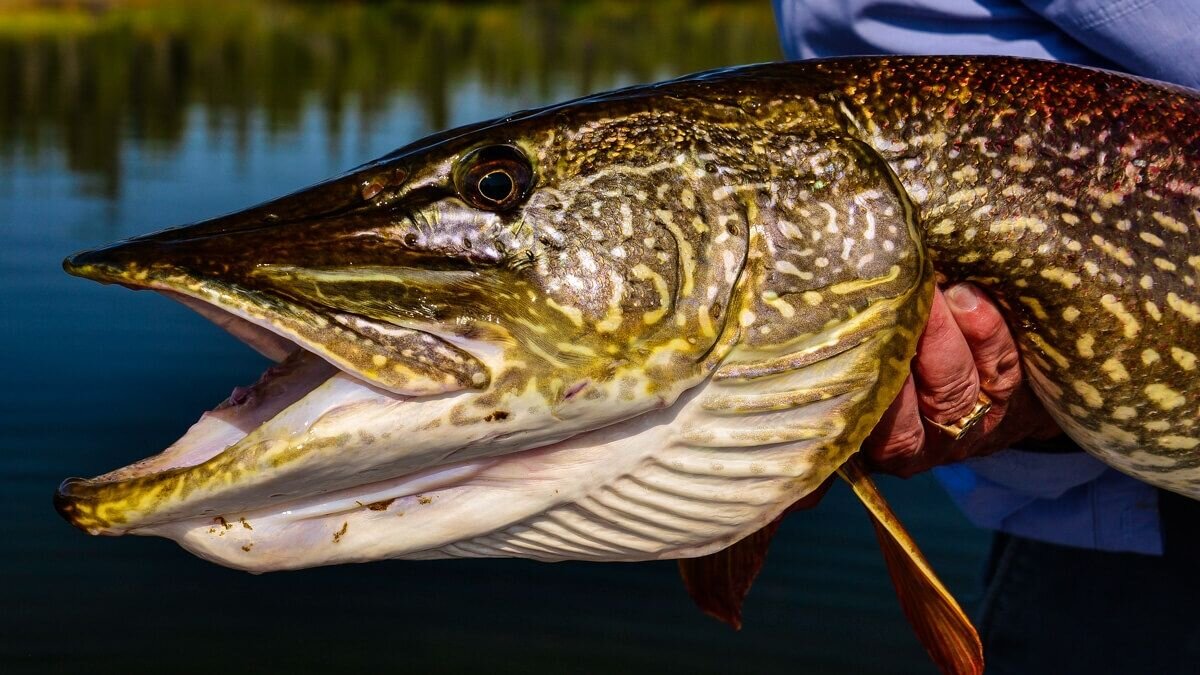
[[934,292],[929,322],[917,342],[913,374],[917,402],[925,419],[953,424],[966,417],[979,400],[974,357],[941,291]]

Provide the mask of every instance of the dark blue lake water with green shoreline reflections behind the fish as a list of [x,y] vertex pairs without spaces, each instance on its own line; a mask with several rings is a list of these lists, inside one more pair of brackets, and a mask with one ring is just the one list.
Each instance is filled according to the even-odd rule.
[[[0,670],[931,671],[840,489],[785,524],[740,633],[672,563],[252,577],[50,507],[64,477],[156,453],[264,368],[174,303],[66,276],[66,253],[449,125],[778,55],[764,1],[0,11]],[[928,478],[883,488],[972,607],[986,537]]]

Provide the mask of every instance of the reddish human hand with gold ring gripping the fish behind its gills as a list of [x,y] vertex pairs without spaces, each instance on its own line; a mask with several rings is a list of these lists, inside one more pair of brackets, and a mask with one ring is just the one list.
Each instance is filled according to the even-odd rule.
[[[959,440],[929,422],[966,417],[983,392],[991,410]],[[912,374],[863,443],[870,468],[910,477],[985,455],[1022,438],[1061,434],[1025,382],[1016,344],[998,307],[972,283],[934,292]]]

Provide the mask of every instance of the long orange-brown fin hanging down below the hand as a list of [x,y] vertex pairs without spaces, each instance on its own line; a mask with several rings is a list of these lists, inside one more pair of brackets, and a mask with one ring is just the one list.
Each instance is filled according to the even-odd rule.
[[971,620],[937,579],[857,456],[838,470],[866,507],[900,607],[934,663],[948,675],[983,673],[983,645]]

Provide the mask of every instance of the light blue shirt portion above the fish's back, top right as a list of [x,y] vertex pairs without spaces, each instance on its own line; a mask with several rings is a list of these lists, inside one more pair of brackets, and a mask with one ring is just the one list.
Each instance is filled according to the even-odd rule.
[[790,59],[1008,54],[1200,88],[1196,0],[775,0]]

